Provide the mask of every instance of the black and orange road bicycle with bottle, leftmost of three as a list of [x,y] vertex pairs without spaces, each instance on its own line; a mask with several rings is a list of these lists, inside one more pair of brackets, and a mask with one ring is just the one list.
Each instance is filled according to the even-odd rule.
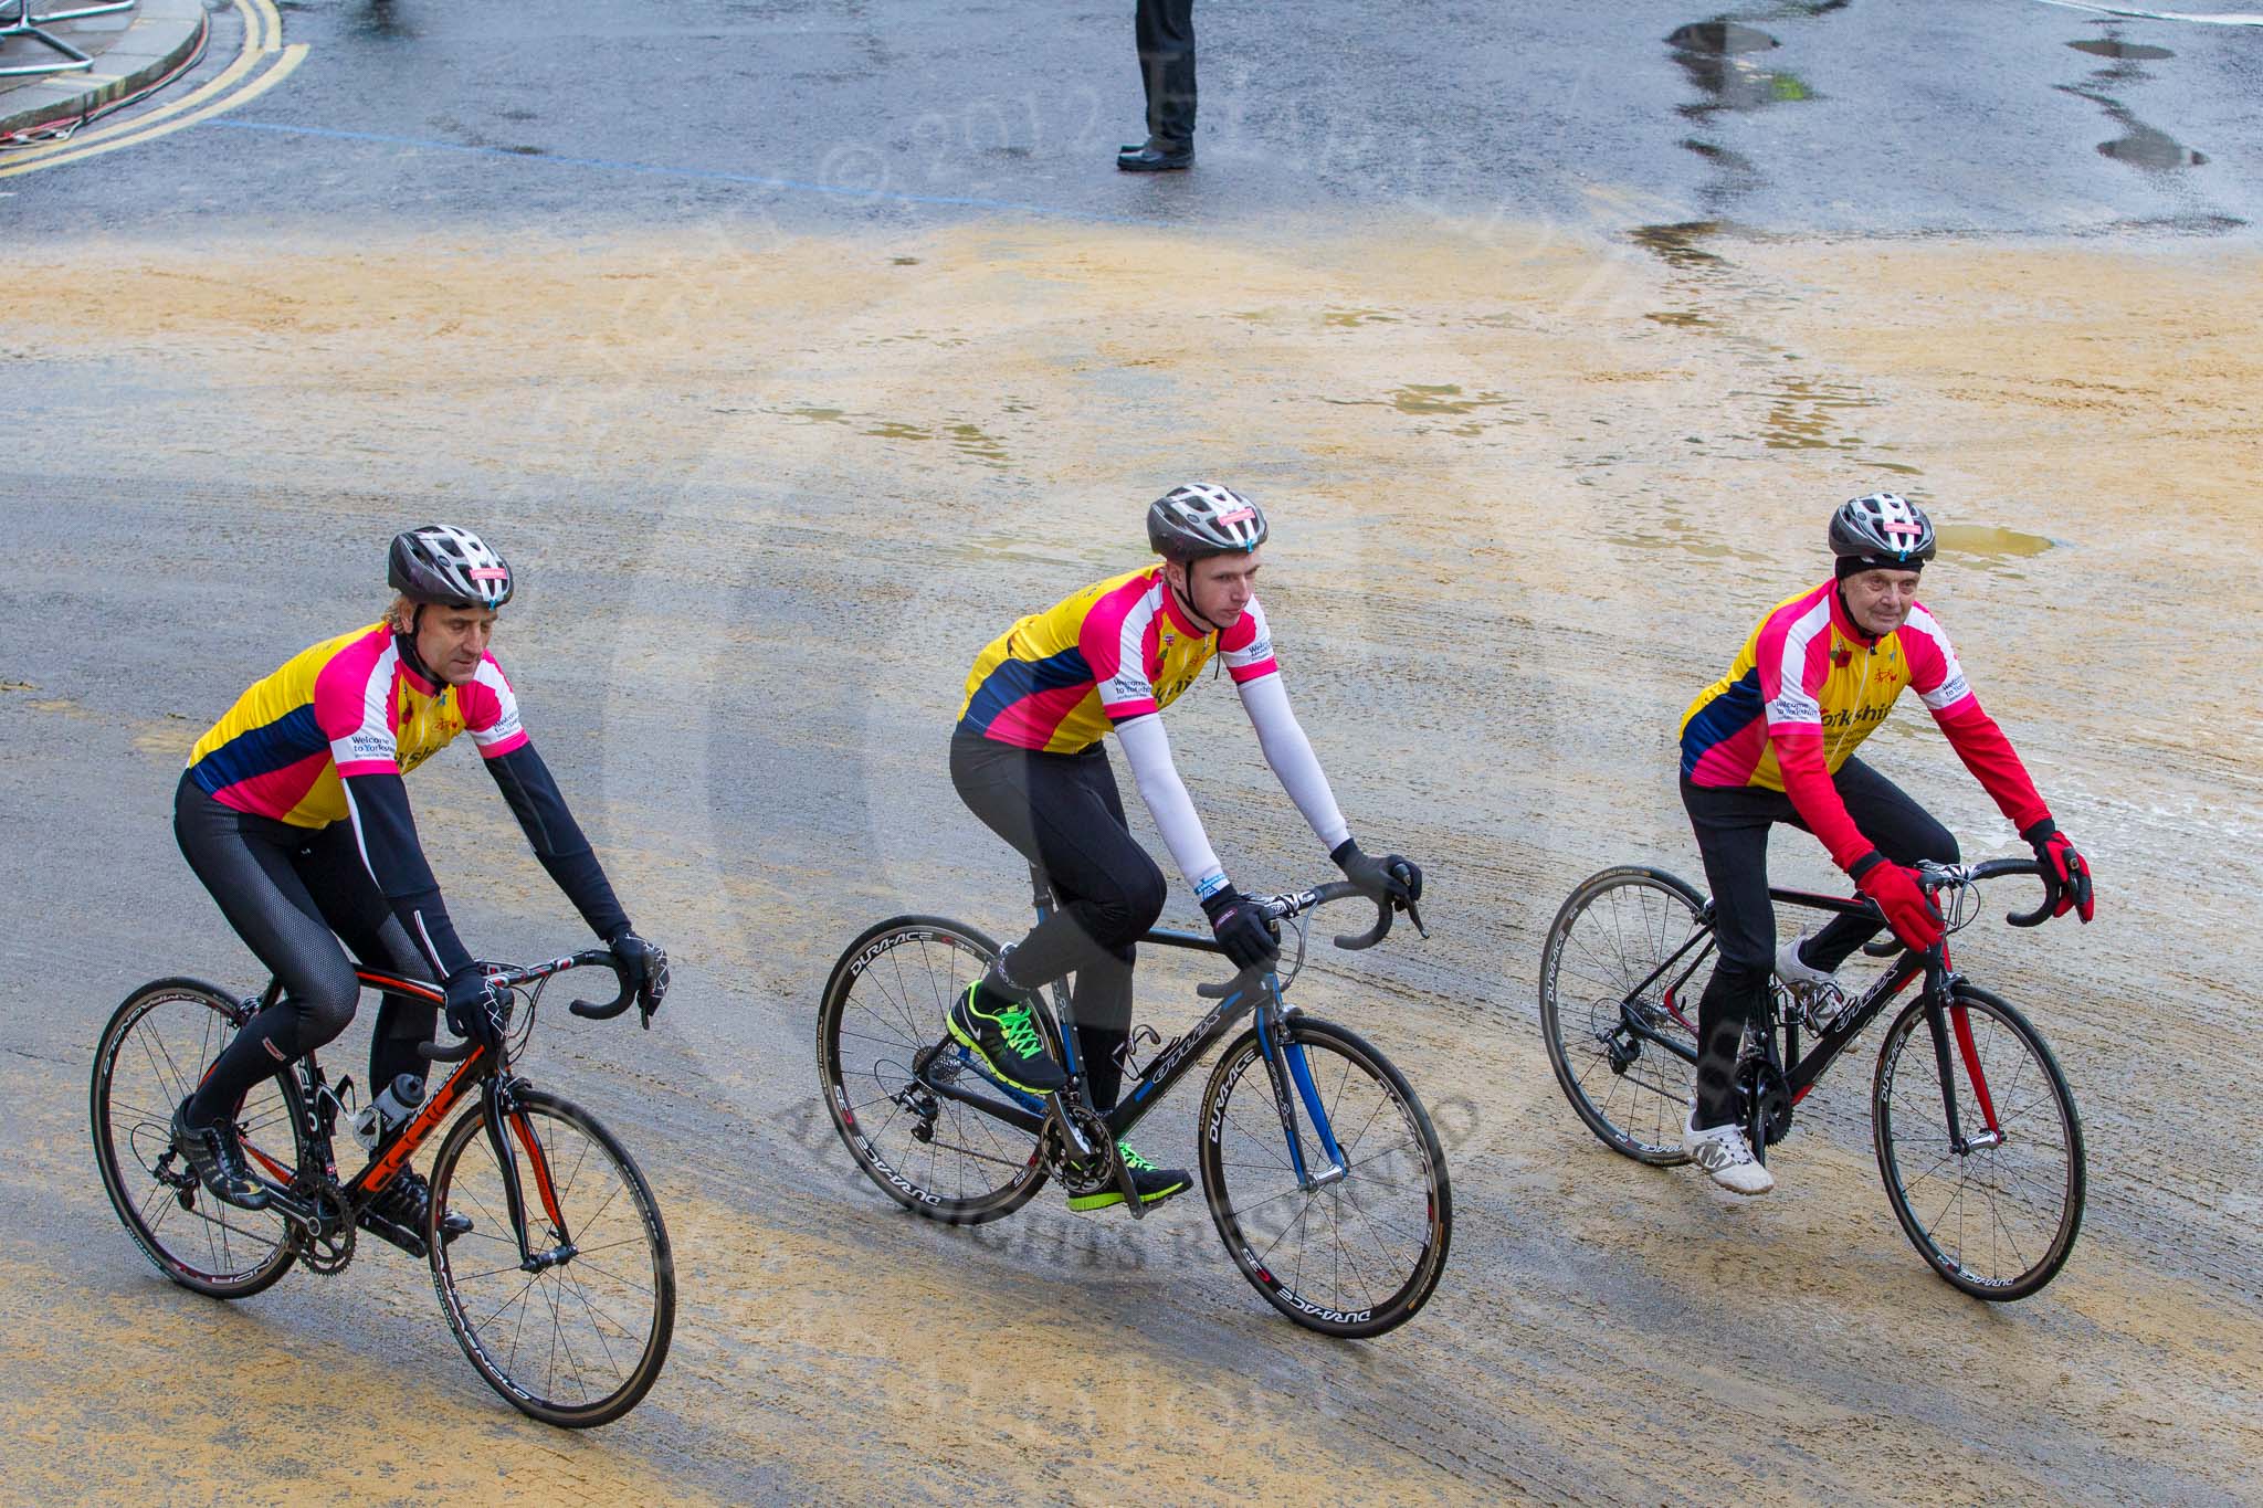
[[[455,1069],[351,1178],[339,1178],[333,1135],[339,1117],[351,1117],[353,1078],[328,1083],[306,1054],[260,1081],[233,1117],[269,1196],[258,1212],[222,1203],[197,1182],[172,1149],[172,1112],[235,1031],[281,999],[283,983],[251,999],[199,979],[145,983],[111,1015],[95,1051],[91,1110],[102,1187],[149,1262],[213,1298],[249,1298],[292,1264],[339,1273],[353,1262],[358,1230],[382,1234],[432,1264],[448,1327],[496,1393],[566,1429],[618,1420],[668,1359],[677,1314],[668,1228],[613,1133],[511,1074],[543,986],[597,965],[616,972],[618,997],[568,1008],[611,1020],[629,1008],[631,986],[602,947],[530,968],[487,965],[509,988],[505,1049],[425,1042],[425,1058]],[[355,974],[371,990],[441,999],[419,979]],[[643,1011],[647,1026],[665,988],[663,965]],[[466,1101],[432,1158],[423,1230],[391,1225],[371,1203]],[[450,1232],[448,1216],[462,1216],[468,1230]]]

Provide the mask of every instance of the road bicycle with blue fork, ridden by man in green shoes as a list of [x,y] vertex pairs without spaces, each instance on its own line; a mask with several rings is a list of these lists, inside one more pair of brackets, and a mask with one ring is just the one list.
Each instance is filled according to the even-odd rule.
[[[1032,870],[1043,920],[1052,891]],[[1358,1033],[1290,1006],[1317,907],[1362,895],[1346,882],[1256,904],[1294,934],[1294,961],[1197,986],[1215,1002],[1163,1042],[1141,1026],[1122,1049],[1116,1110],[1091,1108],[1077,1060],[1068,990],[1052,986],[1032,1015],[1068,1085],[1043,1099],[998,1081],[944,1024],[998,945],[964,922],[896,916],[842,952],[817,1011],[817,1067],[826,1110],[855,1164],[898,1205],[978,1225],[1021,1210],[1048,1178],[1068,1194],[1109,1187],[1145,1214],[1116,1142],[1217,1042],[1254,1017],[1217,1058],[1202,1092],[1202,1189],[1211,1221],[1242,1275],[1281,1314],[1331,1336],[1378,1336],[1423,1307],[1446,1266],[1453,1196],[1446,1155],[1405,1076]],[[1421,929],[1412,904],[1403,907]],[[1337,947],[1374,947],[1376,925]],[[1428,936],[1428,934],[1423,934]],[[1217,943],[1156,927],[1145,943],[1220,952]],[[1136,1054],[1154,1056],[1145,1067]]]

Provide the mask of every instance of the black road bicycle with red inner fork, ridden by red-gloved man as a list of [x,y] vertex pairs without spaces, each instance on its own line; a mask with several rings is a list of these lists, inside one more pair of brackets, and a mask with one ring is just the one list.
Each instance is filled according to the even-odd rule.
[[[1921,864],[1946,931],[1978,913],[1978,884],[2037,875],[2032,859]],[[1770,889],[1776,904],[1867,911],[1867,900]],[[2048,913],[2005,916],[2034,927]],[[1541,1033],[1573,1110],[1607,1146],[1652,1167],[1688,1162],[1681,1126],[1697,1076],[1697,990],[1713,954],[1713,902],[1657,868],[1607,868],[1557,911],[1541,950]],[[1792,1108],[1912,981],[1872,1074],[1872,1139],[1903,1232],[1957,1289],[2028,1298],[2066,1264],[2082,1228],[2082,1119],[2043,1035],[2010,1002],[1960,974],[1946,934],[1924,954],[1892,938],[1894,963],[1860,995],[1772,979],[1745,1033],[1736,1092],[1754,1155],[1792,1130]],[[1706,970],[1709,972],[1709,970]],[[1695,988],[1693,988],[1695,983]],[[1813,1038],[1806,1056],[1799,1033]]]

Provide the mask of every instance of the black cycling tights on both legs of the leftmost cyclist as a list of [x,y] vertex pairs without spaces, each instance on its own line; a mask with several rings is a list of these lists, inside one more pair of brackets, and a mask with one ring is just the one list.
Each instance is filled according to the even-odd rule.
[[[369,877],[349,823],[292,827],[251,816],[220,805],[183,773],[172,803],[172,832],[235,936],[283,981],[283,999],[235,1033],[190,1097],[190,1124],[208,1126],[233,1115],[251,1085],[346,1029],[362,997],[346,947],[367,968],[432,977]],[[430,1002],[385,997],[369,1045],[364,1097],[376,1097],[398,1074],[425,1072],[416,1045],[432,1040],[434,1017]]]

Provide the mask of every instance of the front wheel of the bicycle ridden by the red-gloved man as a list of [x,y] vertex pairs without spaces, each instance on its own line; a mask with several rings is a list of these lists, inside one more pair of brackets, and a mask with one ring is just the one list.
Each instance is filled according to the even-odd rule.
[[1951,1149],[1933,1031],[1924,999],[1912,999],[1885,1033],[1872,1085],[1885,1196],[1935,1273],[1973,1298],[2028,1298],[2066,1264],[2082,1228],[2075,1099],[2028,1017],[1969,983],[1951,1006],[1948,1078],[1967,1142],[1989,1130],[1985,1085],[2003,1133],[1994,1146]]

